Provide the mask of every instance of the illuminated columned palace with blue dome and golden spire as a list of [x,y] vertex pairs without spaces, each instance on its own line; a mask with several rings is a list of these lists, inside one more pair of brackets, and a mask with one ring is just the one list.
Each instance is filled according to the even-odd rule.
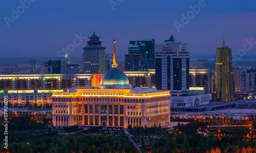
[[[115,41],[113,41],[115,43]],[[76,87],[53,93],[54,126],[125,127],[165,125],[169,122],[169,91],[135,87],[117,69],[115,44],[112,69],[98,87]]]

